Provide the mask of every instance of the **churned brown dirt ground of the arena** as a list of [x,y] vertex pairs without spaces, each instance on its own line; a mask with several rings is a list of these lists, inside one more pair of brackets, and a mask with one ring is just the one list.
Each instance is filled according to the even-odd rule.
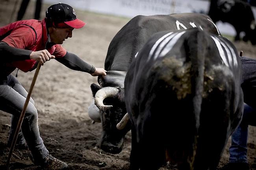
[[[20,1],[13,13],[16,0],[0,0],[0,26],[15,20]],[[48,6],[49,4],[43,4],[41,17],[45,16]],[[31,1],[23,19],[33,18],[34,9],[35,4]],[[87,25],[74,30],[73,37],[66,40],[63,47],[95,67],[104,67],[111,39],[129,19],[79,10],[76,10],[76,14]],[[244,56],[256,58],[255,46],[244,42],[234,44],[238,51],[244,51]],[[16,74],[16,71],[13,74]],[[18,80],[27,90],[34,73],[35,71],[26,74],[18,72]],[[126,135],[124,149],[120,154],[108,154],[97,147],[101,125],[92,124],[87,114],[92,99],[91,83],[97,83],[97,77],[72,71],[55,60],[46,62],[41,67],[32,93],[38,110],[41,137],[50,154],[68,163],[72,170],[127,170],[131,150],[130,132]],[[0,111],[0,169],[6,164],[9,154],[9,148],[6,148],[9,121],[10,114]],[[256,170],[256,128],[249,128],[248,160],[252,170]],[[228,162],[229,146],[230,139],[219,167]],[[29,151],[15,150],[13,153],[10,169],[40,169],[33,165]],[[175,166],[170,165],[160,169],[176,170]]]

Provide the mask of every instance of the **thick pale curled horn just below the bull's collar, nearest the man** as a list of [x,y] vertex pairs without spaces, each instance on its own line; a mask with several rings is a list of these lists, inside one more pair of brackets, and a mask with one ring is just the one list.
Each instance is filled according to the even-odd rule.
[[108,97],[113,97],[118,94],[118,89],[115,87],[103,87],[102,89],[98,90],[95,94],[94,100],[95,105],[100,110],[106,110],[113,107],[112,105],[104,105],[103,100]]

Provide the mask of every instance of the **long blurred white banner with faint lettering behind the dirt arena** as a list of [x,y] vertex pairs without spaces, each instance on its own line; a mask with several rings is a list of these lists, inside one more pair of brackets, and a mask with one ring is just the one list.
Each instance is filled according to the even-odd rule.
[[137,15],[170,13],[208,13],[205,0],[44,0],[48,4],[62,2],[75,9],[133,18]]

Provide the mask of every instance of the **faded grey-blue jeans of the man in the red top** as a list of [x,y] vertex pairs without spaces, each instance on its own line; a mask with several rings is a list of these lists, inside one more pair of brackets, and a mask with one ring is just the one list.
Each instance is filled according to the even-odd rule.
[[[8,143],[13,140],[27,95],[28,92],[11,74],[6,79],[0,80],[0,110],[12,114]],[[24,139],[31,151],[35,165],[42,165],[48,155],[48,150],[39,134],[38,114],[32,98],[28,103],[17,143],[21,143]]]

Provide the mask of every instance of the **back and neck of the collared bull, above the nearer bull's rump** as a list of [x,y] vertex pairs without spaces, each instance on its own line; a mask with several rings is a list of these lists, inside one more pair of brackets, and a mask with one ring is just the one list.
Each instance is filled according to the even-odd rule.
[[135,16],[115,35],[108,49],[105,69],[127,71],[135,54],[143,47],[152,34],[167,31],[199,27],[219,35],[219,31],[210,17],[198,13],[170,15]]

